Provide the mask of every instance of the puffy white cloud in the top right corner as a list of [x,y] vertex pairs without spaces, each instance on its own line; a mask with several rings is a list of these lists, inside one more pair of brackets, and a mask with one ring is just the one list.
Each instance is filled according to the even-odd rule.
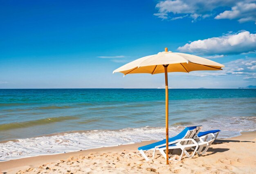
[[256,3],[238,2],[231,10],[218,14],[214,19],[237,19],[238,22],[256,22]]

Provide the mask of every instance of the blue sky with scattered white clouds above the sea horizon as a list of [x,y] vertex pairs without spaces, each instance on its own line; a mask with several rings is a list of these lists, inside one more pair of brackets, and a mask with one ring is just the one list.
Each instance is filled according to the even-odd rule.
[[256,85],[256,0],[5,0],[0,22],[0,88],[164,88],[112,71],[165,47],[225,65],[170,88]]

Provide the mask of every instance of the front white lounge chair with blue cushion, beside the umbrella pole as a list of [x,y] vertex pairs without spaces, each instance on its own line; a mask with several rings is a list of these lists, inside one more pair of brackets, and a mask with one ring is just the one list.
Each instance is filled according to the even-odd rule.
[[[193,139],[194,137],[197,136],[197,134],[200,132],[202,129],[202,126],[191,126],[191,127],[186,127],[182,132],[177,134],[175,137],[169,138],[169,145],[168,149],[181,149],[182,154],[180,155],[180,159],[182,159],[183,154],[185,153],[186,156],[193,157],[195,155],[196,150],[198,149],[198,143]],[[192,156],[189,155],[189,153],[186,151],[187,149],[190,149],[194,147],[194,152]],[[148,144],[142,147],[138,148],[139,152],[141,155],[148,161],[148,156],[146,156],[144,151],[147,150],[153,150],[153,158],[155,156],[155,151],[159,150],[160,153],[166,158],[166,154],[164,150],[166,150],[166,139],[162,141],[158,141],[156,143]]]

